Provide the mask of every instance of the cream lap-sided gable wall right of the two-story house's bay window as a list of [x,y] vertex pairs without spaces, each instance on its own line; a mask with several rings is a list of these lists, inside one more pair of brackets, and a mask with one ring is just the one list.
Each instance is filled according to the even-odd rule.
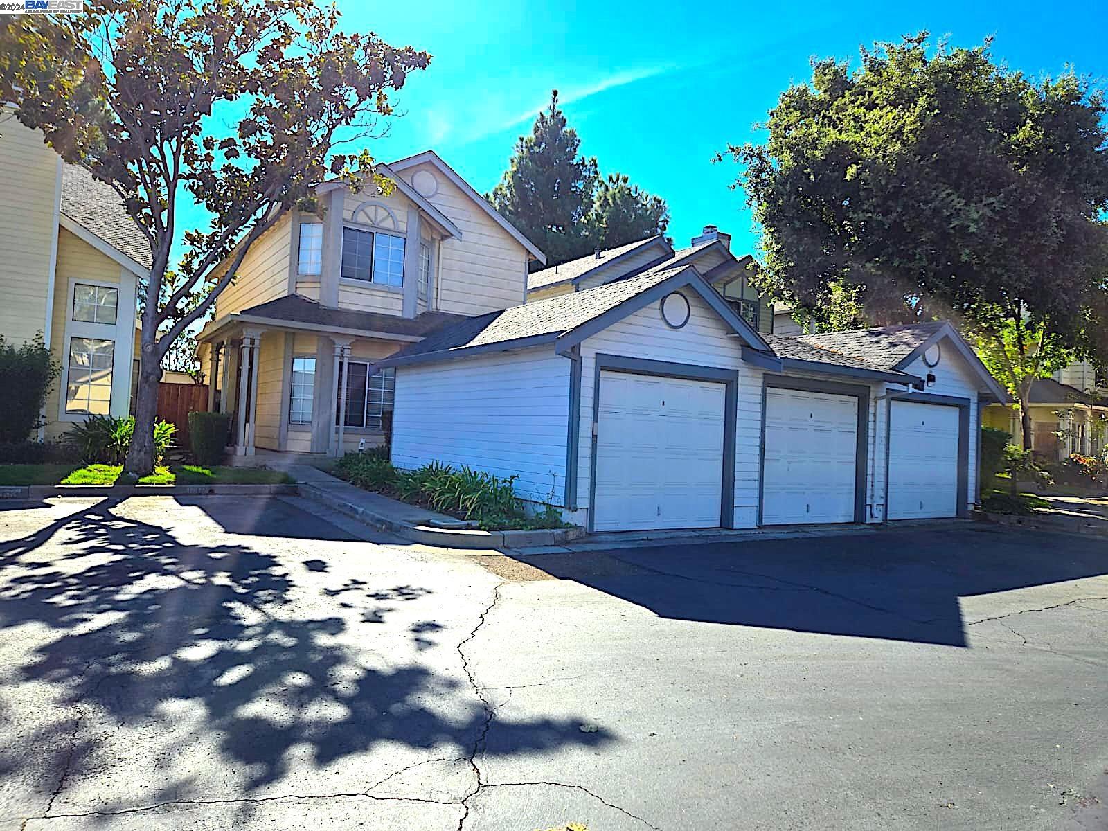
[[458,315],[519,306],[524,301],[527,253],[454,183],[431,164],[404,171],[410,182],[429,171],[438,191],[428,197],[453,222],[462,238],[444,239],[439,252],[438,308]]

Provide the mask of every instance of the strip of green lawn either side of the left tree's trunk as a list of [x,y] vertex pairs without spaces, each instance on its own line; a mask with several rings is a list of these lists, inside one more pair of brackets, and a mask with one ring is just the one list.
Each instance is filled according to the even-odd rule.
[[[0,464],[0,485],[112,485],[123,471],[121,464]],[[293,478],[283,471],[263,468],[228,468],[174,464],[156,468],[138,484],[285,484]]]

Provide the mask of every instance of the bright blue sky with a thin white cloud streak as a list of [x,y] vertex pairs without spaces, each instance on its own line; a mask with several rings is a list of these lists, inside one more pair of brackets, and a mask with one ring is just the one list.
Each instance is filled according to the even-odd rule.
[[791,82],[808,79],[811,57],[856,58],[859,44],[927,29],[958,45],[992,34],[995,55],[1030,75],[1073,64],[1108,76],[1100,0],[1065,12],[992,0],[338,6],[343,29],[434,55],[398,98],[407,114],[370,142],[375,157],[431,147],[484,193],[556,88],[582,152],[663,196],[677,244],[714,223],[733,235],[737,252],[753,249],[756,230],[742,194],[728,187],[736,165],[712,164],[712,155],[757,138],[756,122]]

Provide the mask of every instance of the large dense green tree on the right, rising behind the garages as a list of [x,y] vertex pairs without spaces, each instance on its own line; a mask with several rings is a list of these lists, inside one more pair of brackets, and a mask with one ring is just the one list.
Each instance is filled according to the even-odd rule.
[[1105,113],[1086,79],[1033,81],[988,41],[814,62],[768,140],[728,148],[763,288],[824,324],[844,301],[870,324],[954,318],[1026,404],[1059,360],[1108,355]]

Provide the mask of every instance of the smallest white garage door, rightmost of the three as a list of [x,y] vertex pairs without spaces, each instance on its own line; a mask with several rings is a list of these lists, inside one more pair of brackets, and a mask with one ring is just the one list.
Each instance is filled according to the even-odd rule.
[[958,513],[958,408],[893,401],[889,414],[889,519]]

